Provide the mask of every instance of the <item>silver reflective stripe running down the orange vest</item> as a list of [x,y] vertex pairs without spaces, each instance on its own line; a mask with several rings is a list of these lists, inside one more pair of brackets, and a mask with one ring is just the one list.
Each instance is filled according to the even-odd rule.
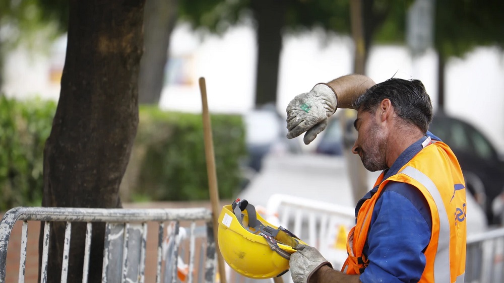
[[[437,214],[439,216],[439,234],[436,257],[434,259],[434,281],[450,282],[450,223],[448,222],[448,214],[446,212],[443,198],[439,194],[439,191],[432,180],[430,180],[427,175],[423,174],[418,169],[407,166],[399,173],[405,174],[422,184],[429,191],[436,203]],[[464,274],[457,276],[456,283],[463,282]]]

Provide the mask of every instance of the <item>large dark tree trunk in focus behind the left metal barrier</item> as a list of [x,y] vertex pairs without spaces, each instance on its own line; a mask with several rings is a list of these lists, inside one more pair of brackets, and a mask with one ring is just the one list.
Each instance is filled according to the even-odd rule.
[[[144,2],[70,1],[61,92],[44,149],[43,206],[121,207],[118,188],[138,125]],[[89,282],[101,282],[103,228],[93,227]],[[68,281],[79,282],[85,224],[72,232]],[[47,279],[59,282],[65,224],[52,223],[50,233]]]

